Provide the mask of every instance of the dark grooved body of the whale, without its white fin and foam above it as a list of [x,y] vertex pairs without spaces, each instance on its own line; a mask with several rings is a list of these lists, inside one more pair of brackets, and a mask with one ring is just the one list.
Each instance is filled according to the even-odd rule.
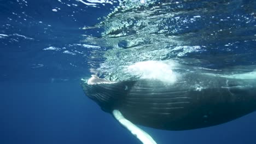
[[102,110],[164,130],[210,127],[256,110],[256,80],[185,74],[173,84],[141,79],[82,86]]

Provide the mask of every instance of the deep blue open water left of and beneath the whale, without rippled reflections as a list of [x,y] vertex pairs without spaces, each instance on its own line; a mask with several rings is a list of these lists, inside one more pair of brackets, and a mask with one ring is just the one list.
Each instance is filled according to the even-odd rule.
[[[139,143],[80,87],[80,78],[90,73],[86,49],[73,44],[83,44],[82,27],[100,22],[97,18],[112,6],[67,3],[78,6],[57,0],[0,1],[0,34],[8,35],[0,38],[0,143]],[[56,7],[60,10],[52,11]],[[83,54],[43,50],[49,46]],[[256,113],[189,131],[143,129],[158,143],[249,144],[256,143]]]

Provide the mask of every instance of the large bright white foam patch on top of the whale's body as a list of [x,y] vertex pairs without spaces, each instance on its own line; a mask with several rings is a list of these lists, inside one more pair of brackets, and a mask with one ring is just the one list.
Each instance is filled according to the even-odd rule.
[[173,61],[145,61],[137,62],[127,67],[127,71],[132,75],[139,75],[141,79],[155,79],[167,83],[174,83],[177,74],[172,69],[177,63]]

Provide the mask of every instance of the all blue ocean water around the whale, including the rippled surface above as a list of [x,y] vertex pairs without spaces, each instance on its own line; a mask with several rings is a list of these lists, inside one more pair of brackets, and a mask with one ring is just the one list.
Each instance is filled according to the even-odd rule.
[[[0,1],[0,143],[139,143],[80,86],[124,59],[255,69],[254,1],[143,2]],[[255,112],[196,130],[141,128],[158,143],[256,143]]]

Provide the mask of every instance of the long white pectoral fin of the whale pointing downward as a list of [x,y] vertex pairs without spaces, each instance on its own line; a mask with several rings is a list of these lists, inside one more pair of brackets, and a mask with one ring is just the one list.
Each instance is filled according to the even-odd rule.
[[128,119],[126,119],[119,110],[113,110],[113,116],[117,121],[123,125],[127,130],[131,131],[131,133],[137,137],[139,141],[144,144],[156,144],[153,138],[143,131],[142,129],[138,128],[135,124],[131,123]]

